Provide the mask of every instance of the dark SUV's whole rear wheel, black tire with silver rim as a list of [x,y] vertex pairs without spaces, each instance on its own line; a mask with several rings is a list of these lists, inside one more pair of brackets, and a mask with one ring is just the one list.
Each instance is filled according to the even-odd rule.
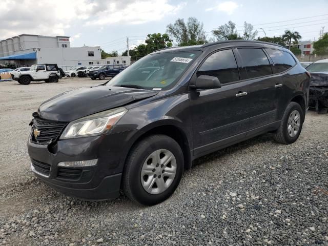
[[280,126],[274,133],[274,139],[281,144],[292,144],[297,140],[302,131],[303,121],[304,112],[301,106],[292,101],[283,113]]

